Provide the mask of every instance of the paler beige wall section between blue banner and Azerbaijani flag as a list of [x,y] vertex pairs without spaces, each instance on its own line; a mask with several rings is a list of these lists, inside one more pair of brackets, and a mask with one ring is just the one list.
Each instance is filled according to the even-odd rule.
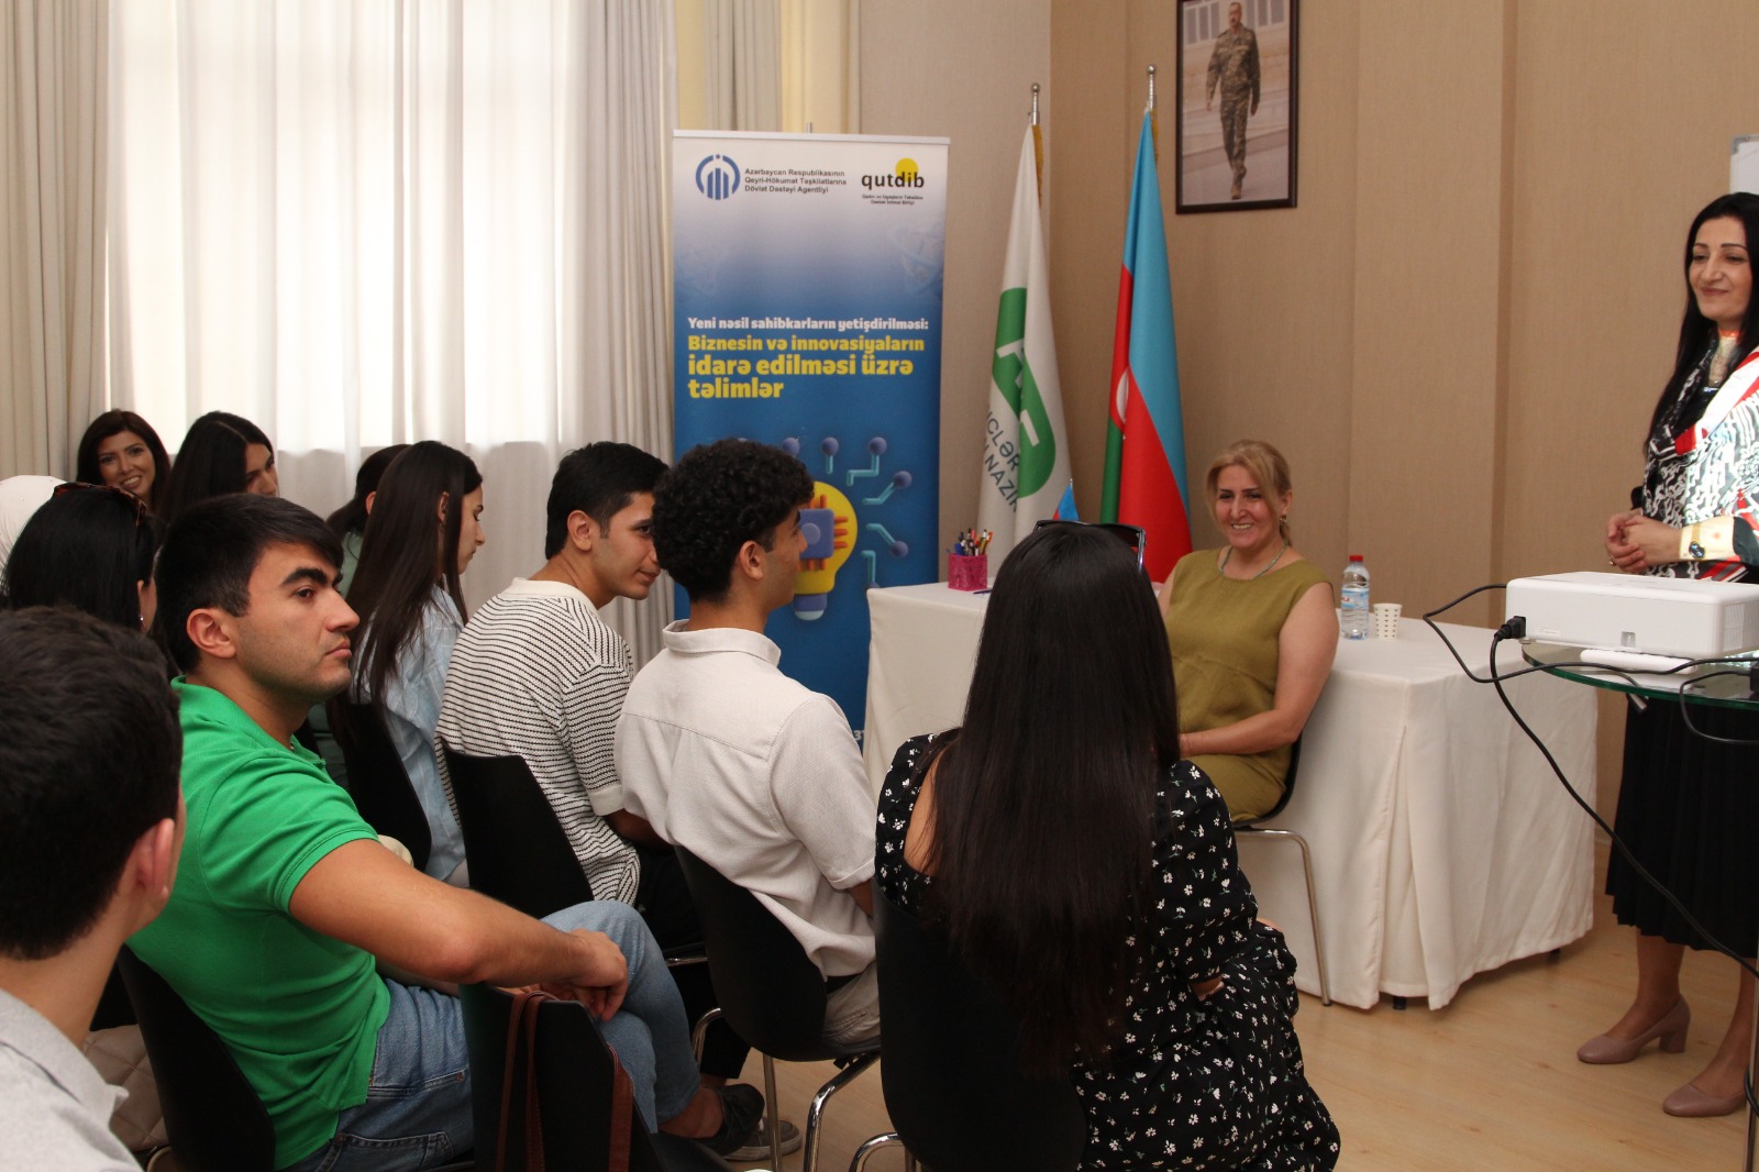
[[[997,282],[1034,81],[1043,86],[1040,120],[1055,120],[1050,7],[1050,0],[860,5],[862,134],[952,139],[941,338],[943,531],[976,521]],[[1062,368],[1071,366],[1064,361]]]

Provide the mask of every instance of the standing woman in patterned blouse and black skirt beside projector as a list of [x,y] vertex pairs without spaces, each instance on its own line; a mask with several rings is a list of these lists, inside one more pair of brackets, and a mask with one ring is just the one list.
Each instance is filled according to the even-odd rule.
[[[1685,238],[1685,315],[1673,378],[1655,401],[1634,509],[1606,523],[1608,565],[1625,574],[1754,581],[1759,565],[1759,301],[1748,245],[1759,195],[1712,201]],[[1736,956],[1759,949],[1759,822],[1752,744],[1759,718],[1650,700],[1625,713],[1624,778],[1613,829],[1697,922]],[[1745,743],[1745,744],[1741,744]],[[1653,1040],[1685,1049],[1692,1010],[1680,996],[1685,949],[1710,943],[1622,852],[1606,866],[1620,924],[1638,929],[1638,989],[1625,1015],[1576,1052],[1585,1063],[1627,1063]],[[1710,1065],[1662,1100],[1671,1116],[1726,1116],[1747,1103],[1754,978],[1738,977],[1734,1017]]]

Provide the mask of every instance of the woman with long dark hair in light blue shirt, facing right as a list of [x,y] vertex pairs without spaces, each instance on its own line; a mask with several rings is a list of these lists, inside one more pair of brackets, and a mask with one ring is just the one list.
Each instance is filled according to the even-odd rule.
[[427,815],[427,873],[464,883],[464,836],[440,785],[434,727],[464,628],[459,575],[482,546],[482,473],[424,440],[390,461],[366,519],[348,605],[361,616],[354,699],[378,709]]

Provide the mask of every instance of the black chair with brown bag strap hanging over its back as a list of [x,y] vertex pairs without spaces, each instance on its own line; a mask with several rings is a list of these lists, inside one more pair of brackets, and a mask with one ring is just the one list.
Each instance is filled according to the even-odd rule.
[[[464,1042],[470,1047],[470,1098],[477,1123],[477,1151],[484,1158],[500,1146],[501,1079],[507,1072],[507,1022],[514,998],[493,985],[463,985]],[[610,1133],[612,1054],[586,1007],[579,1001],[549,1001],[538,1010],[536,1051],[538,1107],[544,1117],[544,1160],[551,1168],[600,1172],[607,1168],[605,1137]],[[517,1114],[517,1112],[515,1112]],[[702,1144],[675,1135],[649,1133],[640,1112],[630,1107],[631,1172],[728,1172],[728,1165]],[[522,1117],[514,1137],[508,1172],[526,1167]]]

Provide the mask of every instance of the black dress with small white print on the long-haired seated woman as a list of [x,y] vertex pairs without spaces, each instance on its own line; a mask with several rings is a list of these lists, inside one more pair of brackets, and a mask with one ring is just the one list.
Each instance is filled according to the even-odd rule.
[[[880,794],[876,876],[911,912],[932,883],[904,862],[929,750],[929,737],[906,743]],[[1332,1168],[1337,1126],[1307,1086],[1291,1022],[1295,957],[1254,919],[1228,806],[1191,762],[1166,771],[1154,804],[1147,964],[1110,1063],[1069,1072],[1087,1114],[1082,1167]],[[1191,993],[1217,975],[1207,1000]]]

